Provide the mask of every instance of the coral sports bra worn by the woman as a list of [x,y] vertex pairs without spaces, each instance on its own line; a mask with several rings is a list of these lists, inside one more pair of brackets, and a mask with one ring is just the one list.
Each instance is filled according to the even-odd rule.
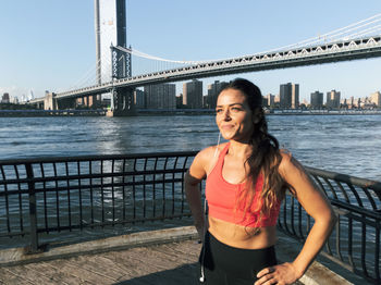
[[241,203],[239,207],[236,206],[238,194],[245,188],[246,183],[231,184],[222,177],[222,168],[224,158],[229,150],[229,145],[230,144],[228,142],[223,148],[216,166],[207,177],[206,198],[208,200],[209,215],[225,222],[248,227],[275,225],[281,205],[279,201],[275,201],[269,213],[263,213],[259,220],[262,203],[262,200],[260,200],[260,194],[263,186],[262,175],[258,176],[253,203],[246,211],[246,214],[244,206],[247,201],[244,201],[244,206],[241,206]]

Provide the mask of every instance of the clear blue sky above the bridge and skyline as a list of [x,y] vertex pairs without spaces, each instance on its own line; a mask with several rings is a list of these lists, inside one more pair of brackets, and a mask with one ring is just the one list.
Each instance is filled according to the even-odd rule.
[[[112,1],[112,0],[110,0]],[[127,41],[173,60],[212,60],[295,44],[381,13],[381,1],[126,0]],[[0,95],[65,90],[95,65],[93,0],[3,0],[0,9]],[[245,73],[263,94],[298,83],[300,97],[336,89],[342,97],[381,90],[381,58]],[[176,92],[181,92],[177,84]]]

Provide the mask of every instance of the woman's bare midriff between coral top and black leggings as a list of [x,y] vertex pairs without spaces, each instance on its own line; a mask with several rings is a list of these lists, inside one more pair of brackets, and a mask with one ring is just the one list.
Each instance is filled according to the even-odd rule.
[[[260,249],[275,245],[275,226],[245,227],[209,216],[208,231],[219,241],[244,249]],[[259,231],[258,231],[259,230]]]

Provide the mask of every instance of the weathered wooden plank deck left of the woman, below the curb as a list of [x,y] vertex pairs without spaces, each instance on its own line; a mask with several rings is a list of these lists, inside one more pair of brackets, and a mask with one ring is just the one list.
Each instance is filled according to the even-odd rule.
[[197,284],[195,240],[0,268],[0,284]]

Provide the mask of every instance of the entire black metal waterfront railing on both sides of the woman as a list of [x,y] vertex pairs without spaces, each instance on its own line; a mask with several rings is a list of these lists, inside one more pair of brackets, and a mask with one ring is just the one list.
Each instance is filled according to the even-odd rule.
[[[65,239],[70,232],[102,232],[170,219],[192,223],[183,183],[195,154],[0,161],[0,239],[24,238],[35,252],[44,243]],[[306,169],[339,215],[322,255],[380,284],[381,183]],[[303,241],[312,225],[298,201],[287,195],[279,228]]]

